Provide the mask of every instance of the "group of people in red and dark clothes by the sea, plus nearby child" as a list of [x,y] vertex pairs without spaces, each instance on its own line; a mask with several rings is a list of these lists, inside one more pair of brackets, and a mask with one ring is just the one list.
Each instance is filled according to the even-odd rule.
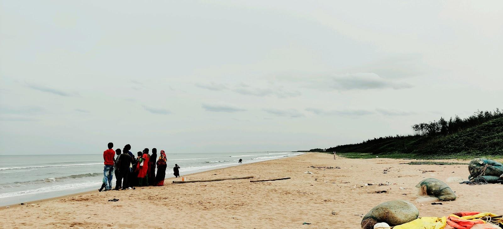
[[[114,190],[134,189],[134,186],[162,186],[166,175],[166,154],[160,151],[157,158],[157,149],[152,148],[152,154],[148,154],[148,148],[137,153],[135,158],[131,153],[131,146],[125,145],[123,150],[112,149],[113,143],[108,144],[108,150],[103,152],[105,167],[103,169],[103,184],[99,189],[101,192],[112,190],[113,174],[117,179]],[[117,155],[117,157],[115,157]],[[115,157],[115,158],[114,158]],[[155,168],[157,167],[157,174]],[[180,167],[176,164],[173,168],[175,177],[179,177]]]

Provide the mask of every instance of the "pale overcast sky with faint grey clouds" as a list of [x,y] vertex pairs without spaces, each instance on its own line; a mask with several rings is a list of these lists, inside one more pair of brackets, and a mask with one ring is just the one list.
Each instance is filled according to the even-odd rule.
[[502,1],[0,1],[0,155],[297,151],[503,107]]

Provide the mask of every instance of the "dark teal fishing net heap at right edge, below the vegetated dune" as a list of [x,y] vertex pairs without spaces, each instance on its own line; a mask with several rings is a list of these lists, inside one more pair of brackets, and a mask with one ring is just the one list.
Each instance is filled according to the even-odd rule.
[[475,158],[468,164],[470,176],[468,179],[472,182],[498,183],[503,181],[503,164],[485,159]]

